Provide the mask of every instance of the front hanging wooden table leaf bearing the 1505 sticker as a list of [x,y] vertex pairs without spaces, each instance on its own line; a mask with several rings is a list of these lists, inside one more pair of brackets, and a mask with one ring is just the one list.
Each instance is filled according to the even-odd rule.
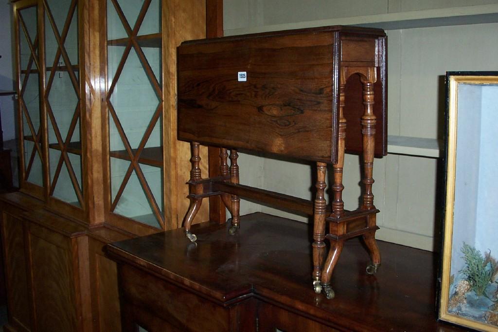
[[329,160],[333,43],[326,32],[180,46],[179,139]]

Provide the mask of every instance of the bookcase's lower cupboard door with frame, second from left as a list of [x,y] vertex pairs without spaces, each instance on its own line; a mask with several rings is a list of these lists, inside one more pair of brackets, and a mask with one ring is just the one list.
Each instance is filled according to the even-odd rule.
[[30,222],[26,236],[36,331],[90,331],[87,235]]

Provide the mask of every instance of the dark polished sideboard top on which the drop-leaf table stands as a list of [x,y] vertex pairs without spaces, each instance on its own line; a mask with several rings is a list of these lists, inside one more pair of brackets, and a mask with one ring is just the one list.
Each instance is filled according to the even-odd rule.
[[200,235],[196,243],[174,229],[110,244],[108,254],[120,266],[221,307],[252,298],[338,330],[460,331],[436,321],[438,263],[431,252],[379,241],[382,266],[367,275],[368,254],[360,241],[348,241],[332,277],[340,280],[334,282],[336,297],[327,300],[309,283],[307,224],[263,213],[242,216],[241,222],[235,236],[228,224],[207,222],[192,226]]

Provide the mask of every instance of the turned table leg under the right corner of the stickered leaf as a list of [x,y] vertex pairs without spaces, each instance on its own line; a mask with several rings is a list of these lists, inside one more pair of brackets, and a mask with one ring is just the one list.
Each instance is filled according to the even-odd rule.
[[316,198],[313,213],[313,287],[317,294],[321,293],[320,275],[322,273],[322,263],[325,253],[325,212],[327,201],[325,200],[325,176],[327,174],[327,164],[316,163],[317,181]]

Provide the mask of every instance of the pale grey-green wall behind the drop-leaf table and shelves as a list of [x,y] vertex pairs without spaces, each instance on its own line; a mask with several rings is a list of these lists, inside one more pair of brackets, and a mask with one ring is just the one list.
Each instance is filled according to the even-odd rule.
[[[323,25],[324,19],[483,5],[498,0],[468,1],[224,1],[225,35],[281,28]],[[278,24],[278,25],[275,25]],[[295,25],[295,26],[294,26]],[[446,71],[493,70],[498,66],[498,23],[388,30],[388,134],[431,139],[443,136]],[[359,158],[345,161],[346,208],[354,209],[360,188]],[[312,169],[308,165],[241,157],[241,183],[311,199]],[[388,155],[375,159],[374,203],[380,213],[377,238],[433,250],[440,225],[435,220],[436,159]],[[260,172],[257,170],[261,169]],[[249,173],[245,173],[249,171]],[[262,211],[306,221],[242,202],[243,213]]]

